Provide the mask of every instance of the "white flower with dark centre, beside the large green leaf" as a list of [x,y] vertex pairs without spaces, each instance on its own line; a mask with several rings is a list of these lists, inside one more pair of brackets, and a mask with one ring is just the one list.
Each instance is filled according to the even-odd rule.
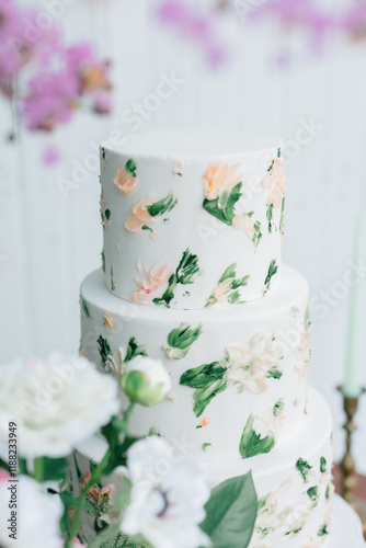
[[174,458],[160,437],[147,437],[128,450],[131,500],[121,530],[142,535],[155,548],[198,548],[210,545],[199,528],[209,488],[203,466]]

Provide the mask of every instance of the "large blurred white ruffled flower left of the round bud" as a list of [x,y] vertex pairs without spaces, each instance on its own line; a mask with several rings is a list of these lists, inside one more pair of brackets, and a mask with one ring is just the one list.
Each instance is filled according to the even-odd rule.
[[118,385],[82,356],[18,361],[0,367],[0,454],[9,422],[25,458],[64,457],[119,411]]

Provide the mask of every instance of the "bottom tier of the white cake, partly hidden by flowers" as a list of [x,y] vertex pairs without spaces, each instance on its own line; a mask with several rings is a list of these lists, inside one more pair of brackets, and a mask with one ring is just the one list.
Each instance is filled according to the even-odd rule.
[[[105,450],[106,443],[99,437],[80,445],[76,477],[80,479],[88,472],[91,461],[100,461]],[[190,458],[188,450],[184,456]],[[202,461],[211,488],[252,471],[259,503],[250,548],[325,546],[333,493],[332,420],[327,401],[314,389],[309,390],[308,414],[297,433],[271,454],[244,460]],[[104,481],[114,484],[116,490],[122,486],[117,475]],[[88,540],[95,534],[93,514],[90,522],[84,523]]]

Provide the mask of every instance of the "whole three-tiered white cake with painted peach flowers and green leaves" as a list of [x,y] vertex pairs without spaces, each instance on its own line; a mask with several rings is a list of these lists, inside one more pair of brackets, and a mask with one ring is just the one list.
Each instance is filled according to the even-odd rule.
[[330,411],[307,386],[308,286],[281,265],[281,147],[245,132],[102,147],[105,274],[81,286],[90,359],[118,376],[118,349],[133,341],[171,375],[171,398],[137,406],[133,433],[155,429],[203,461],[213,487],[252,470],[251,548],[323,546],[333,490]]

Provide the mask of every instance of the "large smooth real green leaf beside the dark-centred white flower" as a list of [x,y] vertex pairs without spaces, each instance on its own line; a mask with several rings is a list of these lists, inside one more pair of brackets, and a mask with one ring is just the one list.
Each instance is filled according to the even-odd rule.
[[247,548],[253,535],[258,499],[251,472],[213,489],[202,529],[213,548]]

